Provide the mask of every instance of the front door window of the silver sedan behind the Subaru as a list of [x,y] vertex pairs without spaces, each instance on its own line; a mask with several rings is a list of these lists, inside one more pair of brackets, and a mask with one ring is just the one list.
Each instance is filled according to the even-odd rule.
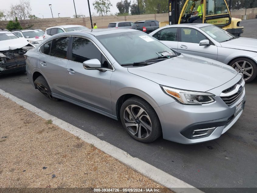
[[181,41],[199,44],[201,40],[207,39],[198,30],[192,28],[181,28]]

